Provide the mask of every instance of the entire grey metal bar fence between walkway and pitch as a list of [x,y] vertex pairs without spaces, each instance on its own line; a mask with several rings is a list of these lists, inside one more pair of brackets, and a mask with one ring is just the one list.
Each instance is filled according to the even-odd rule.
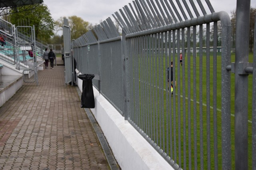
[[231,63],[228,14],[209,0],[135,0],[113,17],[122,37],[108,18],[73,40],[78,70],[100,75],[100,93],[175,169],[256,169],[256,48],[252,141],[241,142],[252,152],[241,158],[231,145],[241,119],[231,113],[231,72],[241,66]]

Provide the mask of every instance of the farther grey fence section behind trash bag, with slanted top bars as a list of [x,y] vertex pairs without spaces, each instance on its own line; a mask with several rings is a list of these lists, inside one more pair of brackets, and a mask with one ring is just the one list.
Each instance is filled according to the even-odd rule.
[[[100,75],[101,94],[122,114],[124,79],[121,49],[121,37],[110,18],[73,40],[74,58],[78,61],[77,69],[83,74]],[[93,80],[93,84],[99,89],[98,80]]]

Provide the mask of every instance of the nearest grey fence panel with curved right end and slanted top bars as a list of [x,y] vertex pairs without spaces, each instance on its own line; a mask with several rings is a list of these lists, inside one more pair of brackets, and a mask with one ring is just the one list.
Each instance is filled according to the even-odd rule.
[[[126,48],[130,51],[129,59],[126,61],[128,63],[126,76],[131,84],[127,89],[131,105],[130,110],[128,109],[130,123],[176,169],[192,169],[192,167],[218,169],[220,168],[218,162],[221,160],[218,156],[219,152],[223,153],[224,169],[230,168],[230,128],[226,128],[230,127],[230,104],[228,104],[230,91],[226,89],[226,86],[230,85],[230,72],[226,70],[226,66],[230,64],[230,52],[228,52],[230,43],[227,42],[230,36],[230,24],[228,24],[230,20],[226,17],[228,15],[226,13],[206,14],[202,2],[198,1],[198,6],[204,14],[204,17],[200,17],[198,10],[194,8],[194,2],[190,1],[198,19],[182,21],[182,17],[187,20],[188,16],[182,10],[180,2],[177,4],[182,15],[172,1],[170,4],[161,1],[162,6],[158,1],[156,4],[153,1],[150,2],[151,5],[147,6],[143,1],[135,1],[134,8],[137,14],[134,16],[140,18],[138,23],[134,22],[132,14],[128,12],[135,13],[132,6],[130,6],[131,10],[127,7],[124,12],[120,10],[123,18],[117,12],[116,17],[114,16],[126,33],[128,39]],[[186,1],[183,2],[189,16],[193,17],[188,4]],[[206,3],[210,11],[214,12],[209,2]],[[174,16],[172,10],[167,11],[170,5],[179,21],[184,23],[180,24],[174,18],[176,23],[168,25],[172,23],[170,16]],[[149,9],[154,9],[156,13],[151,13]],[[164,13],[168,13],[167,17],[153,18]],[[225,44],[222,47],[222,57],[217,54],[216,46],[218,31],[216,21],[219,20],[222,21],[222,40]],[[135,26],[140,24],[144,31],[136,29]],[[161,29],[159,26],[162,26]],[[152,27],[156,28],[150,29]],[[188,36],[188,33],[192,36]],[[213,40],[210,41],[210,37],[213,37],[211,38]],[[181,62],[180,55],[182,55]],[[219,62],[220,60],[222,61]],[[173,80],[168,82],[171,78],[170,75],[168,77],[171,61],[173,62]],[[214,66],[214,70],[211,65]],[[222,81],[217,80],[217,74],[222,74]],[[216,87],[211,86],[212,82]],[[216,91],[222,92],[222,100],[216,96]],[[221,107],[218,105],[218,108],[217,103],[222,103]],[[220,108],[222,108],[223,117],[217,114]],[[221,120],[226,121],[223,123],[225,125],[218,127],[217,122]],[[194,122],[193,127],[192,122]],[[227,141],[222,143],[222,147],[218,142],[218,133],[226,135],[224,138]],[[194,152],[193,157],[192,152]]]

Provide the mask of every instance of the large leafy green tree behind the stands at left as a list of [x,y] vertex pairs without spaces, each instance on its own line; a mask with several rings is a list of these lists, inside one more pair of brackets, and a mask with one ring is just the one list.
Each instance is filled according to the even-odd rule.
[[[26,6],[21,8],[28,8]],[[12,24],[20,26],[35,26],[36,38],[47,41],[54,35],[54,20],[45,4],[39,4],[34,10],[10,14]]]

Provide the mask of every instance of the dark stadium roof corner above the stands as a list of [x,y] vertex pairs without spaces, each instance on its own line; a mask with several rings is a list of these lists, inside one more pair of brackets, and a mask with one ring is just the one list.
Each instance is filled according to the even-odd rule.
[[[43,0],[0,0],[0,16],[13,14],[26,10],[33,10],[44,2]],[[27,6],[25,9],[20,9],[22,6]]]

